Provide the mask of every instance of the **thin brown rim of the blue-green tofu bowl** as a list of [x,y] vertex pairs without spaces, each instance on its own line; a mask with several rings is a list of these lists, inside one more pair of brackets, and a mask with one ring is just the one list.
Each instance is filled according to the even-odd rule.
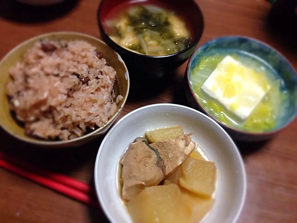
[[289,69],[291,70],[291,73],[295,73],[296,74],[296,77],[295,80],[297,82],[297,73],[295,71],[295,69],[293,68],[293,66],[291,65],[291,63],[286,59],[285,56],[282,55],[282,53],[280,53],[278,50],[276,50],[275,48],[273,48],[272,46],[268,45],[267,43],[265,42],[262,42],[260,40],[257,40],[255,38],[251,38],[251,37],[247,37],[247,36],[236,36],[236,35],[231,35],[231,36],[221,36],[221,37],[217,37],[217,38],[213,38],[213,39],[210,39],[204,43],[202,43],[201,45],[199,45],[199,47],[197,47],[195,49],[195,51],[193,52],[193,54],[190,56],[189,58],[189,62],[187,64],[187,68],[186,68],[186,78],[187,78],[187,83],[188,83],[188,87],[190,89],[190,93],[192,95],[192,97],[194,98],[195,102],[198,104],[199,108],[201,108],[203,110],[203,112],[205,114],[207,114],[210,118],[214,119],[216,122],[218,122],[221,126],[223,126],[224,128],[227,128],[229,130],[232,130],[234,132],[238,132],[238,133],[241,133],[241,134],[245,134],[245,135],[251,135],[251,136],[269,136],[269,135],[273,135],[277,132],[280,132],[282,131],[283,129],[285,129],[287,126],[289,126],[294,120],[295,118],[297,117],[297,110],[295,111],[295,114],[293,115],[293,118],[291,118],[290,122],[288,122],[286,125],[284,125],[283,127],[280,127],[276,130],[273,130],[273,131],[269,131],[269,132],[247,132],[247,131],[243,131],[243,130],[239,130],[239,129],[236,129],[234,127],[230,127],[228,126],[227,124],[221,122],[220,120],[216,119],[215,117],[213,117],[209,112],[207,112],[206,109],[204,109],[204,107],[199,103],[198,99],[195,97],[195,94],[191,88],[191,84],[190,84],[190,72],[189,72],[189,67],[190,67],[190,63],[194,57],[194,55],[196,54],[196,52],[198,50],[201,49],[201,47],[215,41],[215,40],[218,40],[218,39],[235,39],[235,38],[243,38],[243,39],[247,39],[247,40],[251,40],[251,41],[254,41],[254,42],[257,42],[257,43],[260,43],[261,45],[265,46],[265,47],[268,47],[270,48],[271,50],[275,51],[280,57],[282,57],[282,59],[287,63]]

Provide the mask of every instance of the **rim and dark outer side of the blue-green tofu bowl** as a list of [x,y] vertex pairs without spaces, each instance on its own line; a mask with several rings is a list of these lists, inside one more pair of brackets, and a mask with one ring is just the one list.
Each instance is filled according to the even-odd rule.
[[[218,38],[224,38],[224,37],[240,37],[240,38],[247,38],[247,39],[251,39],[257,42],[260,42],[261,44],[271,48],[272,50],[276,51],[281,57],[284,58],[284,60],[286,60],[286,58],[276,49],[274,49],[273,47],[269,46],[268,44],[251,38],[251,37],[247,37],[247,36],[223,36],[223,37],[218,37]],[[217,38],[214,38],[217,39]],[[230,136],[232,139],[234,139],[235,141],[245,141],[245,142],[258,142],[258,141],[264,141],[264,140],[269,140],[271,138],[273,138],[273,136],[275,136],[277,133],[281,132],[283,129],[285,129],[290,123],[292,123],[295,118],[288,123],[287,125],[278,128],[276,130],[270,131],[270,132],[259,132],[259,133],[255,133],[255,132],[245,132],[242,130],[238,130],[235,129],[233,127],[229,127],[228,125],[226,125],[225,123],[222,123],[221,121],[217,120],[216,118],[214,118],[211,114],[209,114],[202,105],[200,105],[199,101],[197,100],[197,98],[195,97],[195,94],[190,86],[190,80],[189,80],[189,66],[190,66],[190,61],[192,60],[192,57],[195,55],[196,51],[198,51],[200,49],[200,47],[202,47],[203,45],[207,44],[208,42],[212,41],[208,40],[204,43],[202,43],[201,45],[199,45],[199,47],[197,47],[197,49],[193,52],[193,54],[190,56],[190,59],[188,61],[187,67],[186,67],[186,72],[185,72],[185,76],[184,76],[184,88],[185,88],[185,95],[186,95],[186,99],[189,103],[189,106],[197,109],[198,111],[201,111],[202,113],[206,114],[208,117],[212,118],[213,120],[215,120]],[[287,61],[287,60],[286,60]],[[287,63],[291,66],[291,68],[293,69],[292,65],[290,64],[289,61],[287,61]],[[294,69],[293,69],[294,70]],[[294,70],[295,71],[295,70]],[[296,73],[296,72],[295,72]]]

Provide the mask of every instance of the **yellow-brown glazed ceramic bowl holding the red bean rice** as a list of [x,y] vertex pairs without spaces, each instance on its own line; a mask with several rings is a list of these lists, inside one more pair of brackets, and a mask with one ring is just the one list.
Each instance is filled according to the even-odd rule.
[[[35,138],[30,138],[24,134],[24,128],[16,122],[15,118],[12,116],[9,109],[9,102],[6,95],[6,85],[8,82],[11,81],[11,78],[9,76],[8,70],[12,65],[15,65],[17,62],[21,62],[23,60],[24,53],[29,48],[33,47],[35,42],[39,41],[42,38],[48,38],[54,41],[59,39],[85,40],[93,46],[97,47],[97,50],[102,51],[104,53],[104,57],[110,61],[111,65],[116,70],[116,82],[114,85],[114,90],[116,95],[120,94],[123,96],[123,100],[118,104],[116,113],[109,119],[108,123],[105,126],[100,127],[95,131],[86,134],[85,136],[65,141],[39,140]],[[116,117],[120,114],[121,110],[123,109],[129,91],[129,74],[121,57],[115,51],[113,51],[111,47],[107,46],[103,41],[82,33],[56,32],[47,33],[31,38],[16,46],[1,60],[0,70],[0,126],[12,136],[15,136],[16,138],[23,140],[25,142],[29,142],[40,146],[78,146],[90,141],[94,137],[98,136],[101,132],[105,132],[107,130],[106,128],[111,126],[111,123],[115,121]]]

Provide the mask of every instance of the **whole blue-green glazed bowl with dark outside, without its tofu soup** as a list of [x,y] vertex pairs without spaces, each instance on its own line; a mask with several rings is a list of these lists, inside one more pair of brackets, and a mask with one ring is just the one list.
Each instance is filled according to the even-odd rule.
[[[214,118],[199,103],[190,84],[190,75],[195,65],[199,64],[200,58],[202,56],[212,55],[213,53],[220,50],[236,50],[255,56],[256,58],[259,58],[259,61],[262,61],[262,63],[269,65],[271,69],[273,69],[284,82],[284,86],[288,91],[288,98],[286,99],[287,104],[286,107],[284,107],[284,114],[278,117],[279,121],[272,130],[264,132],[247,132],[236,129],[234,127],[230,127],[225,123],[222,123],[218,119]],[[210,40],[197,48],[197,50],[190,57],[187,66],[185,75],[185,91],[190,106],[204,112],[212,119],[214,119],[226,130],[226,132],[230,134],[231,137],[234,138],[234,140],[260,141],[269,139],[276,133],[287,127],[297,116],[297,75],[295,70],[284,58],[284,56],[282,56],[275,49],[263,42],[252,38],[238,36],[221,37]]]

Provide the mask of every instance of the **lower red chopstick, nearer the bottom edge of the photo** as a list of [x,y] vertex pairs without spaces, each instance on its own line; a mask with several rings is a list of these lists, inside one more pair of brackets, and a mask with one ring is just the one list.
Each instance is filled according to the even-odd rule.
[[59,182],[55,182],[51,179],[48,179],[44,176],[39,176],[34,173],[25,171],[19,167],[14,166],[11,163],[8,163],[2,159],[0,159],[0,167],[3,167],[11,172],[14,172],[18,175],[24,176],[25,178],[28,178],[32,181],[35,181],[41,185],[44,185],[50,189],[56,190],[60,193],[66,194],[69,197],[72,197],[78,201],[81,201],[85,204],[88,204],[93,207],[100,207],[98,201],[91,197],[89,194],[86,194],[84,192],[81,192],[79,190],[73,189],[72,187],[69,187],[67,185],[63,185]]

